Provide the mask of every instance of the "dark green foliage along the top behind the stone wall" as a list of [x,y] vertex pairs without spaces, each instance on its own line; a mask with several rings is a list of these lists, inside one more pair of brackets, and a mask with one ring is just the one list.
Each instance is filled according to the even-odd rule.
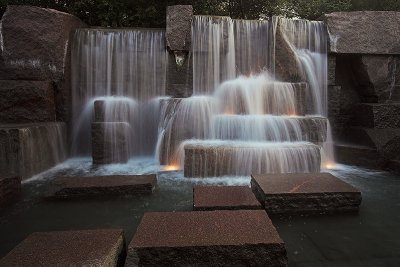
[[272,15],[318,19],[324,13],[352,10],[400,10],[400,0],[0,0],[74,14],[92,26],[165,27],[168,5],[193,5],[195,14],[259,19]]

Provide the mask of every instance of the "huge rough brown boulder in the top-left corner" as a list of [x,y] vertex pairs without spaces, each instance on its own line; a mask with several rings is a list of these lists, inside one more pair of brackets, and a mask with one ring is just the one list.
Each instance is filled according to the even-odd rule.
[[2,18],[0,79],[61,80],[70,65],[70,39],[84,27],[52,9],[10,5]]

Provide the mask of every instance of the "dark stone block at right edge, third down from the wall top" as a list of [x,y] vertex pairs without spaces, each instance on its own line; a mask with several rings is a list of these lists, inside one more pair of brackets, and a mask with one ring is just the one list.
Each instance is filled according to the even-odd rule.
[[354,107],[353,124],[367,128],[400,128],[400,103],[368,104]]

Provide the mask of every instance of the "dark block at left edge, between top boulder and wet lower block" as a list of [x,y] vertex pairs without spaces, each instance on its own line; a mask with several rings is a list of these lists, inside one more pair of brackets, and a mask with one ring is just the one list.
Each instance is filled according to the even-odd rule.
[[49,81],[0,80],[0,123],[55,121],[54,101]]

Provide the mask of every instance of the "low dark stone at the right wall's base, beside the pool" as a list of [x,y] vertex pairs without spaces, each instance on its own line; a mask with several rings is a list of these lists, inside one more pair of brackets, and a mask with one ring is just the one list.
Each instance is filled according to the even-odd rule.
[[348,165],[381,169],[385,160],[375,148],[350,144],[335,145],[336,161]]

